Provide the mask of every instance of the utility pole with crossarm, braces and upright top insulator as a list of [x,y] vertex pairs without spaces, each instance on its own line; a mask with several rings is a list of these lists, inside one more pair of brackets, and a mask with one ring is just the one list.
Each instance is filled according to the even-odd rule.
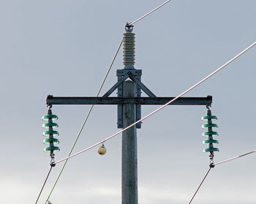
[[[46,103],[52,105],[117,105],[117,127],[125,128],[141,118],[141,105],[164,105],[174,97],[157,97],[140,81],[142,70],[135,65],[135,34],[133,26],[125,26],[124,68],[118,69],[118,82],[102,97],[53,97],[48,95]],[[127,81],[131,79],[132,81]],[[118,97],[109,97],[118,90]],[[143,90],[148,97],[141,97]],[[170,105],[211,106],[212,97],[181,97]],[[137,131],[141,123],[122,133],[122,204],[138,204]]]

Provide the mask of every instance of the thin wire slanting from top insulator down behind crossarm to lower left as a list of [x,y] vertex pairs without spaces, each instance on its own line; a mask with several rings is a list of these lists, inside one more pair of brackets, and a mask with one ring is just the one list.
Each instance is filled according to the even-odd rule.
[[[116,56],[117,56],[117,54],[118,54],[118,52],[119,52],[119,50],[120,50],[120,47],[121,47],[121,44],[122,44],[122,43],[123,43],[123,39],[121,39],[121,42],[120,42],[119,45],[118,45],[118,49],[116,50],[116,54],[114,55],[114,58],[113,58],[113,60],[112,60],[111,63],[110,63],[110,66],[109,66],[109,68],[108,68],[108,71],[107,71],[107,73],[105,74],[105,77],[104,77],[104,79],[103,79],[103,81],[102,81],[102,85],[100,85],[100,87],[99,87],[99,90],[98,90],[97,95],[96,95],[97,97],[99,96],[99,93],[100,93],[100,91],[102,90],[103,85],[105,84],[105,81],[106,81],[106,79],[107,79],[107,76],[108,76],[108,74],[109,74],[109,72],[110,72],[110,69],[111,69],[112,66],[113,66],[114,61],[116,60]],[[88,112],[88,114],[86,115],[86,119],[84,120],[83,125],[82,125],[82,127],[80,128],[80,130],[79,130],[78,136],[77,136],[77,138],[75,138],[75,142],[74,142],[74,144],[72,145],[72,148],[70,149],[70,152],[69,152],[69,154],[68,154],[68,157],[72,154],[72,151],[73,151],[73,149],[74,149],[74,147],[75,147],[75,144],[77,143],[78,138],[80,137],[80,134],[82,133],[83,127],[86,125],[87,119],[89,118],[89,115],[91,114],[91,111],[92,111],[93,108],[94,108],[94,105],[91,105],[91,108],[89,109],[89,112]],[[62,173],[62,171],[64,170],[66,164],[67,164],[67,160],[64,162],[64,165],[62,166],[62,168],[61,168],[61,170],[60,170],[60,172],[59,172],[59,176],[56,178],[56,181],[55,181],[55,183],[53,184],[52,189],[50,190],[50,194],[48,195],[48,198],[47,198],[47,200],[45,201],[45,204],[46,204],[47,201],[49,200],[50,195],[51,195],[52,192],[53,192],[53,189],[56,187],[56,184],[57,184],[57,182],[59,181],[59,177],[61,176],[61,173]]]

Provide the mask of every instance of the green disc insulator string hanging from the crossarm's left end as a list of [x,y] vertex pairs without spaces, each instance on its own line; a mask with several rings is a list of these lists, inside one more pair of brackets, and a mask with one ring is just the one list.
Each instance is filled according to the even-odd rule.
[[53,122],[54,120],[58,119],[58,117],[52,113],[51,109],[48,110],[48,114],[42,117],[42,120],[48,121],[42,127],[48,129],[42,133],[43,136],[46,136],[46,138],[43,142],[44,144],[48,144],[49,146],[46,147],[44,150],[45,152],[50,152],[50,157],[54,157],[53,152],[59,151],[58,146],[54,146],[54,144],[59,144],[59,140],[57,138],[54,138],[54,136],[59,136],[59,132],[56,130],[53,130],[53,128],[59,127],[59,125],[56,122]]

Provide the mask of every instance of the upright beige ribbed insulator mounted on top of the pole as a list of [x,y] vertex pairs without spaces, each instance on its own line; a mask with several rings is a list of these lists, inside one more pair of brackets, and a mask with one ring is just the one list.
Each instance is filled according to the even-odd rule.
[[132,33],[133,26],[126,26],[126,33],[124,34],[124,68],[134,68],[135,65],[135,34]]

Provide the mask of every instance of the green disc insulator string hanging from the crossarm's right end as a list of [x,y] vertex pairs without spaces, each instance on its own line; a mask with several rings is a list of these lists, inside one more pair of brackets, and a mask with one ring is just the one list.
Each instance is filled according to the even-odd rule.
[[219,136],[219,134],[216,131],[213,131],[214,127],[218,127],[217,124],[212,123],[212,120],[217,119],[217,116],[211,115],[211,110],[207,111],[207,116],[202,117],[203,120],[207,120],[206,125],[202,125],[203,128],[208,128],[208,131],[203,133],[203,136],[208,137],[208,140],[203,141],[203,144],[208,144],[209,147],[206,149],[203,149],[203,152],[219,152],[218,148],[214,147],[214,144],[219,144],[217,140],[214,140],[214,136]]

